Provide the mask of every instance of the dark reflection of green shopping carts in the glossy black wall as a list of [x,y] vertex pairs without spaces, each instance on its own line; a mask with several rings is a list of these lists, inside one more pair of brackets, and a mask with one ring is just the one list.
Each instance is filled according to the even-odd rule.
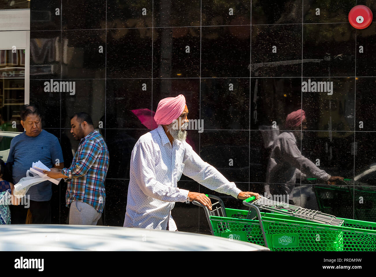
[[[320,211],[358,220],[376,220],[376,187],[345,179],[338,185],[314,185],[313,188]],[[354,206],[342,205],[349,199]]]

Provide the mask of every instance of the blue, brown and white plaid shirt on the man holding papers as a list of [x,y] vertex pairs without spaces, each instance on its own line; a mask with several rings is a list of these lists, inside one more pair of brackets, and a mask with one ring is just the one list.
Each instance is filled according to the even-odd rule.
[[91,205],[98,213],[103,212],[108,163],[107,145],[99,132],[91,132],[81,139],[72,166],[61,171],[65,176],[69,176],[65,179],[68,182],[65,194],[67,207],[77,200]]

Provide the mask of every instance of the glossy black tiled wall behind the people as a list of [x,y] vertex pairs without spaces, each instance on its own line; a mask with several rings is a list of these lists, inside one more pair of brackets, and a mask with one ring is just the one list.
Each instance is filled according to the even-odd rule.
[[[376,12],[374,0],[32,2],[30,102],[59,138],[65,165],[78,147],[70,116],[86,111],[100,128],[110,166],[99,224],[123,225],[133,146],[156,127],[159,100],[179,94],[188,119],[203,121],[203,132],[188,131],[193,149],[241,190],[263,195],[283,185],[265,184],[271,148],[293,131],[287,116],[303,109],[307,129],[294,132],[298,157],[346,180],[328,185],[298,176],[290,199],[374,221],[376,27],[349,24],[359,4]],[[75,93],[46,92],[51,79],[74,81]],[[178,184],[245,209],[186,176]],[[66,222],[65,190],[64,183],[54,187],[54,223]],[[179,231],[210,232],[202,208],[176,203],[172,214]]]

